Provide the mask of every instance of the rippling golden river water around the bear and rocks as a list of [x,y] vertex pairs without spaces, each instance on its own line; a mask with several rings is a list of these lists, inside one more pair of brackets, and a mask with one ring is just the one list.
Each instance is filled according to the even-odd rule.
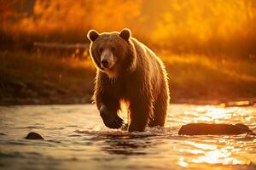
[[[0,169],[256,169],[256,138],[178,136],[189,122],[238,123],[256,131],[256,106],[170,105],[166,127],[104,127],[94,105],[0,107]],[[29,132],[44,140],[24,139]]]

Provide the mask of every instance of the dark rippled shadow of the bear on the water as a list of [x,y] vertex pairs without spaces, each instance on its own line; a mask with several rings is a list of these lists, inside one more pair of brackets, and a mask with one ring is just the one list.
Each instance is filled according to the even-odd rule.
[[96,141],[102,151],[108,154],[133,156],[146,155],[148,148],[158,144],[157,139],[170,138],[169,128],[155,127],[148,128],[143,133],[128,133],[126,130],[120,131],[76,131],[84,135],[92,136],[90,141]]

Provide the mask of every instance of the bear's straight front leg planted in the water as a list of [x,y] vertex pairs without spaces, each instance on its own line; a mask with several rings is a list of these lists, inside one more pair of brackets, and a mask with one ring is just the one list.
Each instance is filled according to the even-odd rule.
[[[147,101],[148,100],[148,101]],[[149,99],[146,101],[137,99],[132,101],[130,105],[130,125],[129,132],[143,132],[148,124],[148,120],[153,111],[152,102]]]

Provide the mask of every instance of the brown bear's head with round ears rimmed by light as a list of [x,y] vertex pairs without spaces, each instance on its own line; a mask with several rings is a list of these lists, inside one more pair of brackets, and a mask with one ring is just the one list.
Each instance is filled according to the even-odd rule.
[[118,77],[121,72],[134,70],[136,55],[129,29],[101,34],[90,30],[87,37],[90,56],[99,71],[107,73],[108,77]]

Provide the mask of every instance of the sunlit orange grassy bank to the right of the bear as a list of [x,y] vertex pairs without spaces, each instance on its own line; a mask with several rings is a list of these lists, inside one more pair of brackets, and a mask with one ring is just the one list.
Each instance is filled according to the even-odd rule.
[[255,60],[162,54],[172,102],[218,104],[256,98]]

